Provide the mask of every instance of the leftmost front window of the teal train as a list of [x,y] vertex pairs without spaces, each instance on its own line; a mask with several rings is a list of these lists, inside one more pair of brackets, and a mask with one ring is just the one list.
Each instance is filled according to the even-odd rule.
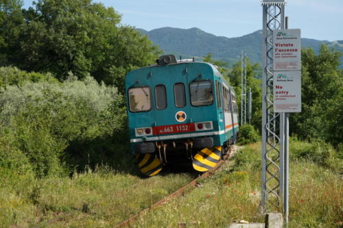
[[128,90],[130,111],[145,112],[151,110],[150,88],[130,88]]

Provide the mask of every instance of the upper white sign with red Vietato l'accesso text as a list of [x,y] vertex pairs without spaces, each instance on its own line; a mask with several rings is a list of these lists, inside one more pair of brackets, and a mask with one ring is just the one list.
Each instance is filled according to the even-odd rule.
[[274,71],[301,71],[300,29],[273,31]]

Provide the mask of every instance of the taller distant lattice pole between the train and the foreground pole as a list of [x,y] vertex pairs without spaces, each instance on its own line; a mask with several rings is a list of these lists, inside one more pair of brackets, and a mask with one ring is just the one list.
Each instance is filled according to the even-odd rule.
[[241,50],[241,125],[246,124],[246,50]]

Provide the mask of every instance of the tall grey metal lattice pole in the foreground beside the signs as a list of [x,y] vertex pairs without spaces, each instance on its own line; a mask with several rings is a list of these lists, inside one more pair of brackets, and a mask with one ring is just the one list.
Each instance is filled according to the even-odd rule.
[[263,75],[262,75],[262,170],[261,211],[280,206],[279,113],[273,109],[273,31],[284,29],[285,0],[262,0]]

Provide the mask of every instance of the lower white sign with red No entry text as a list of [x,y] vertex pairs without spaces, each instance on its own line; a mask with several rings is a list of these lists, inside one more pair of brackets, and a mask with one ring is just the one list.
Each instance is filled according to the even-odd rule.
[[300,71],[274,71],[274,112],[301,112]]

